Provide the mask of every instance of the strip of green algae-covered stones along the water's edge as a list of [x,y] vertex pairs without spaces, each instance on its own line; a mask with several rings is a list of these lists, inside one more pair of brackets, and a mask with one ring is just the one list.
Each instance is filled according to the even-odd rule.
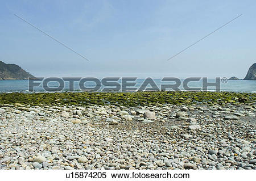
[[0,104],[158,106],[255,104],[255,93],[203,91],[1,93]]

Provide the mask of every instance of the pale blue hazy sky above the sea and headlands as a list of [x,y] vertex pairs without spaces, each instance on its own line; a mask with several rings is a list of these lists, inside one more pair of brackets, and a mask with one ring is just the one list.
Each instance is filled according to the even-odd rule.
[[0,0],[0,60],[37,77],[244,78],[256,62],[255,9],[229,0]]

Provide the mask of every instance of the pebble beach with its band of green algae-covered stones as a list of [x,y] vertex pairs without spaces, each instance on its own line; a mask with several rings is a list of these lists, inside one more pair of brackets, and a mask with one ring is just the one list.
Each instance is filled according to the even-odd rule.
[[0,169],[256,169],[255,94],[0,94]]

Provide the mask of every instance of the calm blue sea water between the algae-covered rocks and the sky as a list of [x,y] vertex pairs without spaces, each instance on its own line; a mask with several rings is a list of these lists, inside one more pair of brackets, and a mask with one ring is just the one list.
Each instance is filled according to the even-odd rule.
[[[133,88],[136,89],[130,89],[131,91],[137,91],[142,86],[144,82],[144,79],[137,79],[134,81]],[[161,79],[154,79],[155,85],[157,87],[161,87],[161,85],[166,85],[168,83],[162,82]],[[181,85],[178,87],[181,91],[186,91],[184,89],[183,85],[184,80],[181,80]],[[214,79],[208,79],[208,82],[215,82]],[[81,92],[81,91],[95,91],[94,87],[96,86],[96,83],[94,82],[86,82],[84,84],[84,87],[86,87],[86,90],[80,89],[79,82],[74,82],[73,88],[70,89],[69,82],[64,82],[64,88],[59,90],[57,87],[59,87],[58,82],[49,82],[48,87],[51,88],[51,91],[47,91],[43,88],[43,83],[40,83],[39,86],[35,86],[33,90],[29,89],[29,83],[28,80],[1,80],[0,81],[0,92]],[[118,83],[121,85],[121,81],[118,81]],[[171,84],[171,83],[170,83]],[[200,81],[192,81],[188,83],[189,87],[192,88],[201,88],[203,87],[202,80]],[[97,91],[104,91],[104,88],[111,88],[111,86],[103,86],[100,85],[100,89]],[[147,88],[151,88],[150,85],[147,85]],[[127,87],[126,91],[129,91],[129,86]],[[151,89],[154,91],[154,89]],[[157,89],[156,89],[157,90]],[[155,90],[155,91],[156,91]],[[172,91],[172,89],[169,89]],[[118,90],[122,91],[122,90]],[[207,91],[216,91],[216,87],[208,87]],[[220,83],[220,91],[228,91],[228,92],[256,92],[256,81],[249,81],[249,80],[226,80],[222,81]]]

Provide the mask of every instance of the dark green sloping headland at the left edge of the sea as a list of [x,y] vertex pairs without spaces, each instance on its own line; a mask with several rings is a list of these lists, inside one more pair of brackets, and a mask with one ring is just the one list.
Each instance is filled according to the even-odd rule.
[[0,80],[28,79],[34,77],[16,64],[5,64],[0,61]]

